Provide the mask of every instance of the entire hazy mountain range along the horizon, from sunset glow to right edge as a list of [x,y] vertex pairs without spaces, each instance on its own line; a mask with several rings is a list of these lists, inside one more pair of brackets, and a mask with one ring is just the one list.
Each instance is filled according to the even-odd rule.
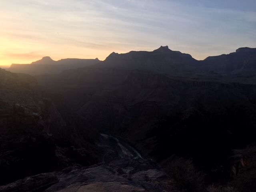
[[[130,51],[125,54],[112,52],[103,62],[96,59],[52,60],[43,57],[31,64],[12,64],[11,72],[30,75],[58,74],[62,70],[92,66],[93,68],[116,68],[123,70],[150,70],[155,73],[193,78],[226,78],[227,81],[256,82],[256,48],[238,48],[236,52],[209,56],[196,60],[190,54],[172,51],[168,46],[148,51]],[[232,80],[230,80],[232,78]]]

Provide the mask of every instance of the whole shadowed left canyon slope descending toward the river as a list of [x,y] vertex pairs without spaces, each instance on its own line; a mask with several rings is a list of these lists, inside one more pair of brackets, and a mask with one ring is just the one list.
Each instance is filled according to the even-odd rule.
[[70,116],[68,121],[63,114],[42,97],[35,78],[0,69],[0,184],[71,165],[74,155],[79,158],[75,148],[65,153],[68,149],[56,150],[56,144],[87,147],[84,164],[97,162],[92,148],[97,149],[86,140],[92,135],[80,129],[79,120]]

